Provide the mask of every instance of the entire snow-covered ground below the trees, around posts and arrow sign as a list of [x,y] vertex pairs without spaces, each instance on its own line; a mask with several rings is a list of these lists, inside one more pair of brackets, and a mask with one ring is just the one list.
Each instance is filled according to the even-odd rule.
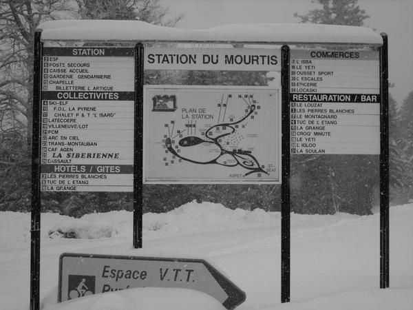
[[[189,203],[145,214],[143,249],[133,249],[132,214],[113,211],[73,219],[42,214],[41,299],[60,310],[218,310],[209,296],[185,289],[133,289],[56,302],[63,252],[198,256],[246,292],[240,310],[413,309],[413,204],[390,211],[390,289],[379,289],[379,214],[292,215],[291,301],[280,304],[280,214]],[[76,231],[82,239],[49,231]],[[0,309],[28,309],[30,214],[0,212]],[[162,296],[162,297],[160,297]]]

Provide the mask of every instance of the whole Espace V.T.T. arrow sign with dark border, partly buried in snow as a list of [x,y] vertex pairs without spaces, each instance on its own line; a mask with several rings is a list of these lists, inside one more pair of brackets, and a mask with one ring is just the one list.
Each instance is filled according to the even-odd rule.
[[134,287],[178,287],[211,295],[226,309],[246,296],[202,259],[64,253],[59,260],[59,302]]

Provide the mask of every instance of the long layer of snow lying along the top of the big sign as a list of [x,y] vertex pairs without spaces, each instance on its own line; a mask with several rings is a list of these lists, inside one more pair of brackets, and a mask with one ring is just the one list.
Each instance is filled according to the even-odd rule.
[[371,28],[302,23],[221,25],[205,30],[186,30],[151,25],[143,21],[63,20],[39,25],[41,39],[91,41],[176,41],[250,43],[356,43],[381,45]]

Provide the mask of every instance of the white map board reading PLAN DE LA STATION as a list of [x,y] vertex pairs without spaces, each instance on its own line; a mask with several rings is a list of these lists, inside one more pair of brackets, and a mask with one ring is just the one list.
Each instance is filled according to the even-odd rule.
[[268,87],[145,86],[144,181],[280,181],[279,92]]

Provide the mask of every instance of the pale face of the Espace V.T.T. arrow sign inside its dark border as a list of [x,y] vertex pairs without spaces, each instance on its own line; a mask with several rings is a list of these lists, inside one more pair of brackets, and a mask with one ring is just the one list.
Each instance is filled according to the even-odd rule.
[[[207,268],[199,262],[78,256],[63,256],[61,260],[62,302],[70,297],[70,275],[78,275],[80,278],[93,276],[94,293],[134,287],[181,287],[203,291],[220,302],[228,297]],[[176,270],[181,272],[177,273]],[[128,279],[125,276],[127,271],[134,272],[134,278],[129,276]],[[123,277],[119,279],[120,273]]]

